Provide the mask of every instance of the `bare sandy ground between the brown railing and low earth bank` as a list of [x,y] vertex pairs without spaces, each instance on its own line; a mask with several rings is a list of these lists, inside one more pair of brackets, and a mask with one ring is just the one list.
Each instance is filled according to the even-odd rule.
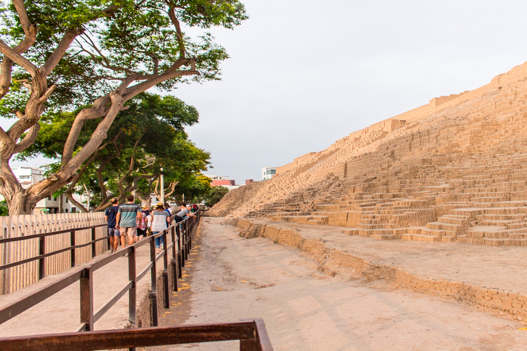
[[[222,221],[202,220],[184,289],[173,296],[177,308],[163,324],[261,317],[274,350],[526,349],[524,324],[382,282],[328,276],[298,250],[243,239]],[[148,350],[189,348],[237,350],[238,343]]]

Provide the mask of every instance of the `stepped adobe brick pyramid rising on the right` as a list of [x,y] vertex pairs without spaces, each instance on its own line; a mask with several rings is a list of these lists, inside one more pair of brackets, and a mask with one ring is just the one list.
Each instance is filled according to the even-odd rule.
[[209,215],[376,239],[527,245],[527,62],[230,191]]

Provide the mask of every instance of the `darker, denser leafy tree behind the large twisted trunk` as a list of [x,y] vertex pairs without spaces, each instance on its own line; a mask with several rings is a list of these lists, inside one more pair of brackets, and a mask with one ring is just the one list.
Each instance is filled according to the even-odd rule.
[[[68,199],[84,212],[88,209],[75,201],[73,193],[86,193],[96,199],[95,211],[108,207],[113,197],[124,201],[128,193],[139,188],[139,197],[148,203],[163,167],[167,180],[177,184],[180,173],[200,172],[209,165],[209,153],[188,141],[184,130],[198,122],[196,108],[172,96],[148,93],[137,95],[128,106],[108,130],[106,143],[86,160],[64,190]],[[72,123],[71,114],[43,116],[35,143],[18,157],[42,154],[61,158],[67,138],[64,131]],[[80,140],[88,139],[96,127],[96,123],[86,123]]]

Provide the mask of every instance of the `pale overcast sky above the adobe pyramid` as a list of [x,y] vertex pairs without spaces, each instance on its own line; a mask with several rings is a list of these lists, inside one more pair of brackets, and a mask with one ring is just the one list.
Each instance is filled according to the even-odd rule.
[[242,2],[250,19],[212,31],[222,81],[173,93],[200,112],[206,173],[237,184],[527,61],[522,0]]

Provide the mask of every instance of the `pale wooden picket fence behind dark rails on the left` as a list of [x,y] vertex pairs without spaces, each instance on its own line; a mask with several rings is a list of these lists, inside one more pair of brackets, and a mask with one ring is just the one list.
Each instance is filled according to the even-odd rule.
[[[57,213],[54,215],[19,215],[0,217],[0,239],[27,237],[41,234],[97,226],[106,223],[104,213]],[[99,239],[108,234],[106,226],[95,228],[95,238]],[[75,231],[75,244],[81,245],[92,240],[92,230]],[[71,245],[71,233],[64,232],[46,237],[45,252],[54,252]],[[27,239],[0,243],[0,266],[8,265],[39,255],[39,239]],[[95,254],[108,250],[106,240],[95,243]],[[75,249],[75,262],[84,263],[92,258],[90,246]],[[71,252],[65,251],[45,260],[45,276],[58,274],[71,267]],[[18,289],[31,285],[39,279],[38,261],[24,263],[0,271],[0,295],[12,293]]]

